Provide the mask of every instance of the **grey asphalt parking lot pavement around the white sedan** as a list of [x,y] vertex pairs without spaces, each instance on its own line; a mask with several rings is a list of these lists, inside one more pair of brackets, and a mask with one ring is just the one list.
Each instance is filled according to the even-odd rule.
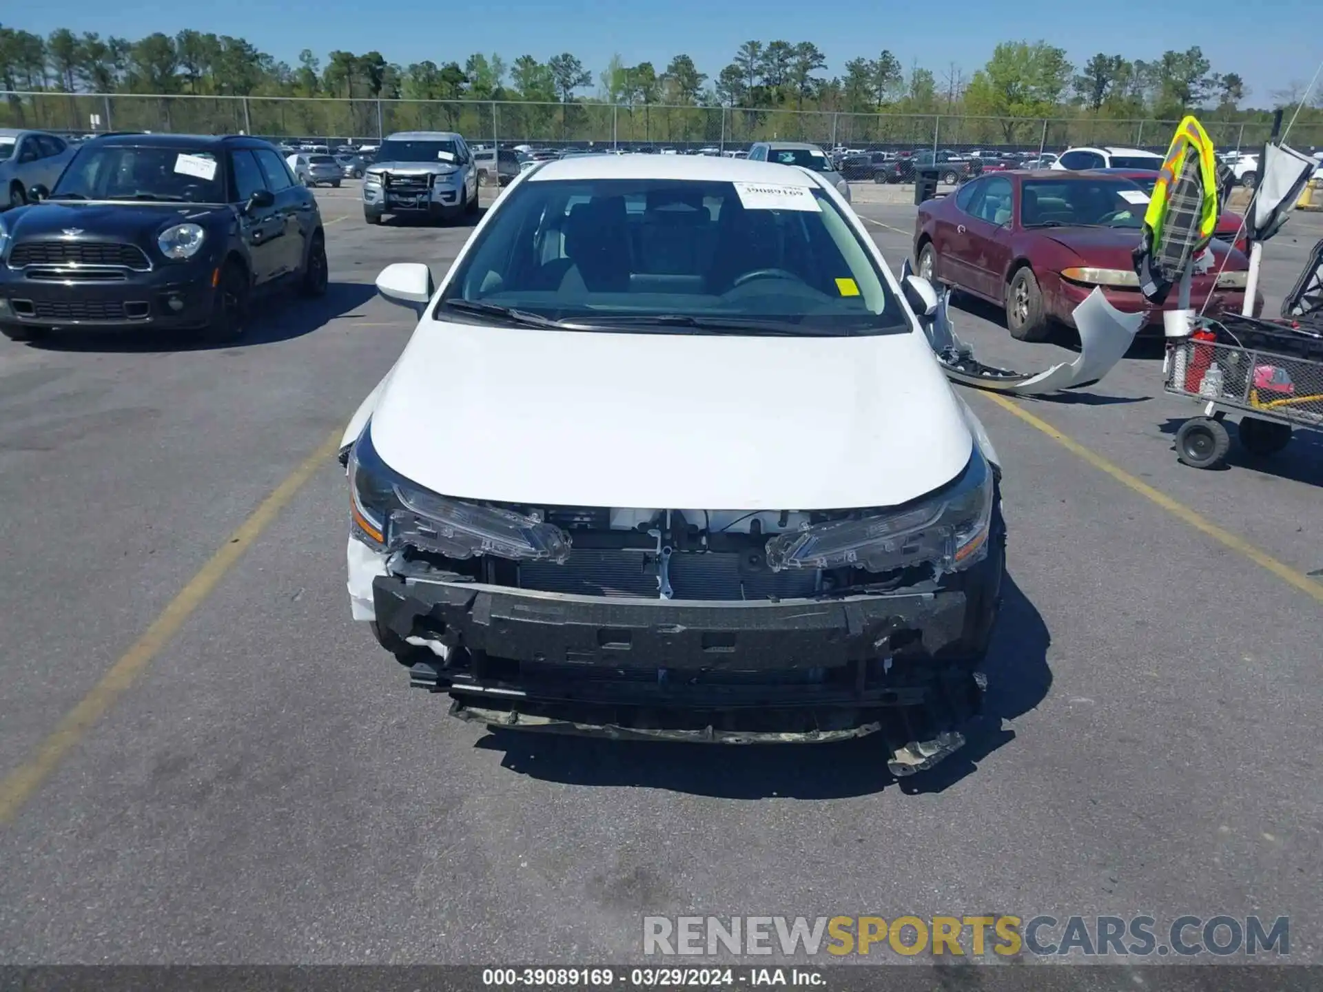
[[[687,913],[1257,913],[1323,959],[1316,435],[1177,464],[1156,348],[1069,401],[966,390],[1009,586],[990,716],[929,776],[493,735],[349,620],[331,456],[413,327],[377,271],[470,229],[319,196],[331,292],[238,347],[0,341],[0,963],[626,962]],[[898,269],[914,208],[860,212]],[[1271,312],[1319,237],[1267,245]],[[986,362],[1072,353],[955,320]]]

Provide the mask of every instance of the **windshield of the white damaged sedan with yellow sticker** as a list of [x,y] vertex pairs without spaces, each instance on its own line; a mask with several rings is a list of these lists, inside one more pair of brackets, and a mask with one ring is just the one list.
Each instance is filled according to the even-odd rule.
[[466,253],[435,316],[479,308],[681,333],[909,331],[847,217],[823,190],[786,184],[524,183]]

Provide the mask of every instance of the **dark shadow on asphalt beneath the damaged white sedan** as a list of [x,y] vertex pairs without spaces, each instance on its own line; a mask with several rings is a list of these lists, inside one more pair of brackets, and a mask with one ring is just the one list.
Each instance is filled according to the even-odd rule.
[[[606,741],[589,737],[492,730],[476,747],[505,753],[501,767],[569,786],[642,786],[721,799],[844,799],[900,783],[913,795],[941,792],[996,749],[1015,739],[1004,720],[1033,709],[1048,694],[1052,639],[1043,616],[1011,575],[984,671],[984,713],[964,729],[966,746],[927,772],[896,779],[880,738],[823,745],[692,745]],[[713,749],[720,749],[714,755]]]

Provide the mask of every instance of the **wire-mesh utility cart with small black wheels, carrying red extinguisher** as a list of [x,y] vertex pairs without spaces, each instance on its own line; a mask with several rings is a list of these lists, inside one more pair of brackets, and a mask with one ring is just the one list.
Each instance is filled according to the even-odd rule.
[[1176,433],[1176,458],[1213,468],[1230,448],[1228,414],[1254,456],[1274,455],[1291,431],[1323,431],[1323,333],[1298,321],[1221,315],[1199,321],[1188,337],[1168,339],[1164,389],[1197,399],[1201,417]]

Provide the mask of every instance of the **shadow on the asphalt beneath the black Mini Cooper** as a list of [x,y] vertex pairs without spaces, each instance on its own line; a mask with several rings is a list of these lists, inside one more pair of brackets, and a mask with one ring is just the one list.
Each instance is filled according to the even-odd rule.
[[275,292],[253,303],[247,333],[238,341],[209,340],[205,331],[54,331],[28,344],[48,352],[191,352],[275,344],[310,335],[336,317],[377,295],[373,283],[332,282],[325,296],[300,299],[291,292]]

